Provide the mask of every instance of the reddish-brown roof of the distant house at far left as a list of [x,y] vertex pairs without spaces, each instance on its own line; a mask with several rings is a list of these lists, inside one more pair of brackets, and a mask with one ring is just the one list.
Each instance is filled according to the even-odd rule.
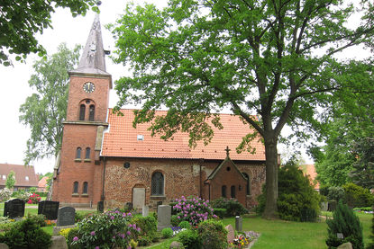
[[5,186],[6,177],[11,171],[15,173],[15,187],[38,187],[38,178],[30,165],[0,164],[0,185]]

